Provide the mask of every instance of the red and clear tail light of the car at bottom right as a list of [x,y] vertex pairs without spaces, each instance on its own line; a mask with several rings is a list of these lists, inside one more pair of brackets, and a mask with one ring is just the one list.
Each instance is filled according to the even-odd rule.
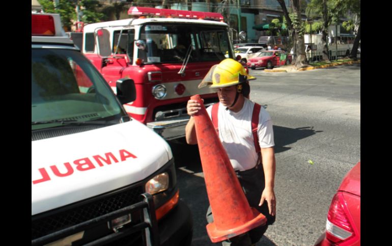
[[326,237],[333,242],[342,242],[354,235],[343,195],[338,192],[332,199],[328,211]]

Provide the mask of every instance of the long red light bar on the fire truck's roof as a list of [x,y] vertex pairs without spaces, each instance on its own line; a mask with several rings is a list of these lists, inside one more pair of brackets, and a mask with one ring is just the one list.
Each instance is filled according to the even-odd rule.
[[148,7],[131,7],[128,10],[128,15],[137,16],[162,16],[162,17],[178,17],[189,19],[211,19],[223,20],[223,16],[219,13],[188,11],[188,10],[170,10],[170,9],[155,9]]

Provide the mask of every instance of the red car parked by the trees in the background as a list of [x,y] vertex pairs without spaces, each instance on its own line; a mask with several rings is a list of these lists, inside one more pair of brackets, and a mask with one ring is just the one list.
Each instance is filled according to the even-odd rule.
[[291,64],[292,56],[283,50],[267,50],[261,52],[258,56],[249,58],[246,65],[251,69],[256,67],[266,67],[272,69],[274,66]]

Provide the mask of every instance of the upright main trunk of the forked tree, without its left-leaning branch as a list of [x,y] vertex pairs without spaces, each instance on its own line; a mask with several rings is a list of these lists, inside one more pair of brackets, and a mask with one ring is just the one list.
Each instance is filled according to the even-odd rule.
[[[295,32],[295,46],[297,58],[295,59],[294,68],[298,69],[309,65],[309,61],[306,59],[305,53],[305,41],[303,38],[303,31],[301,31],[301,1],[291,0],[293,4],[293,12],[296,14],[296,25],[293,25]],[[294,22],[294,21],[293,21]]]

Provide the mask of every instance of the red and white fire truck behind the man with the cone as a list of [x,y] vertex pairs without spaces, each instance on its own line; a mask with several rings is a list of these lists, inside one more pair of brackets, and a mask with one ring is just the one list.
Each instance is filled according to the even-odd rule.
[[83,54],[116,92],[131,78],[136,99],[127,113],[167,140],[185,135],[186,103],[200,94],[205,106],[216,91],[198,85],[212,65],[234,58],[228,25],[218,13],[131,7],[134,18],[87,24]]

